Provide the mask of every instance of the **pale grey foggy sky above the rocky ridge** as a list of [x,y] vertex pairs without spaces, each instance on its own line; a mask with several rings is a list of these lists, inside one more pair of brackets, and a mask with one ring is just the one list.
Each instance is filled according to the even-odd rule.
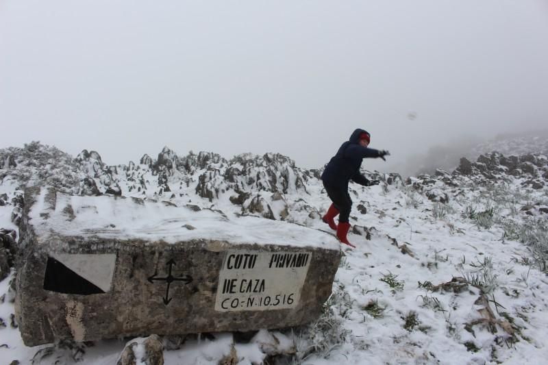
[[0,0],[0,148],[317,168],[356,127],[401,163],[547,122],[547,0]]

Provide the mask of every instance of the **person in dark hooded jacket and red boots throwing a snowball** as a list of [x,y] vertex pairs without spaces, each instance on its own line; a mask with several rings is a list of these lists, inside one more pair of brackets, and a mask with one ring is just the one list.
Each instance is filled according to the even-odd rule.
[[[321,175],[323,187],[329,199],[333,202],[322,220],[337,231],[337,238],[340,242],[351,247],[355,246],[347,239],[347,233],[350,229],[348,218],[352,208],[352,200],[348,194],[348,182],[352,180],[363,186],[379,184],[379,181],[369,181],[360,173],[362,159],[382,158],[385,160],[384,156],[390,155],[388,151],[368,148],[370,141],[371,134],[364,129],[358,128],[353,131],[349,140],[344,142],[336,155],[329,160]],[[338,225],[334,221],[337,214],[340,214],[338,216]]]

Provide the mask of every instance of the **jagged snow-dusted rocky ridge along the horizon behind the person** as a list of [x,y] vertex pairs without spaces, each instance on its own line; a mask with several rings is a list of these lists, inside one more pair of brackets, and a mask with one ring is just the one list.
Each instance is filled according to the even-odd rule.
[[[130,161],[108,165],[97,151],[84,149],[76,158],[71,158],[55,147],[31,142],[23,149],[0,150],[0,166],[3,166],[1,181],[12,180],[19,186],[12,197],[6,194],[0,197],[0,205],[14,205],[14,222],[23,205],[21,186],[32,184],[53,186],[71,194],[112,194],[199,207],[231,203],[236,205],[238,214],[270,219],[295,221],[291,212],[306,212],[311,219],[320,214],[316,207],[306,203],[306,196],[314,190],[312,187],[321,188],[322,170],[299,168],[279,153],[243,153],[227,160],[210,152],[190,151],[188,155],[179,156],[164,147],[156,159],[145,154],[139,164]],[[533,153],[520,156],[487,153],[479,155],[475,162],[461,158],[451,173],[438,169],[434,175],[409,177],[405,182],[398,174],[376,171],[364,171],[364,174],[369,179],[382,181],[384,186],[409,186],[431,201],[447,203],[451,193],[462,194],[462,189],[471,185],[519,181],[523,188],[544,189],[548,181],[548,158]],[[354,194],[360,188],[351,184]],[[358,205],[364,207],[364,203],[360,201]]]

